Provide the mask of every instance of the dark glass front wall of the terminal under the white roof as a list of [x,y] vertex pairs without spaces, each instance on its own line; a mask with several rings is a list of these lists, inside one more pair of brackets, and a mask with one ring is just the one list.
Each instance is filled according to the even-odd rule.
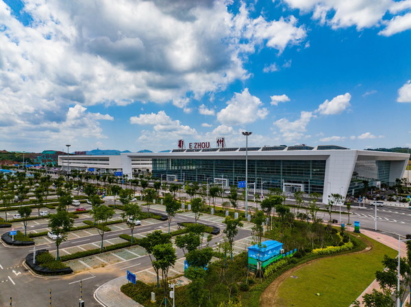
[[[153,159],[153,176],[166,180],[213,183],[223,179],[228,185],[245,181],[245,160],[234,159]],[[249,188],[279,188],[284,184],[303,185],[306,193],[323,193],[324,160],[251,160],[248,161]]]

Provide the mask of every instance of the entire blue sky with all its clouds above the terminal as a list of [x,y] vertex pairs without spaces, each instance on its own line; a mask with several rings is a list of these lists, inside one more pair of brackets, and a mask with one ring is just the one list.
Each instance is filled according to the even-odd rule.
[[411,146],[410,29],[410,0],[0,0],[0,149]]

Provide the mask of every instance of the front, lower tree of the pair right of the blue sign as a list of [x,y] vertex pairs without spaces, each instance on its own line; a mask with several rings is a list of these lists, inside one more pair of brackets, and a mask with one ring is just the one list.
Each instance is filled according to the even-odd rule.
[[164,289],[164,299],[167,299],[167,293],[169,292],[169,269],[175,265],[177,261],[177,254],[175,248],[171,243],[159,244],[153,246],[153,267],[157,271],[161,270],[162,284]]

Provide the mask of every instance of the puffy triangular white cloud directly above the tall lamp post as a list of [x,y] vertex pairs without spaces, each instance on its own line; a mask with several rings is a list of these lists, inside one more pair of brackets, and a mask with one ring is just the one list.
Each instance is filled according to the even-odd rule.
[[256,120],[266,118],[269,111],[262,107],[260,98],[252,96],[248,88],[241,93],[235,93],[234,97],[227,102],[227,107],[217,114],[217,119],[222,124],[250,124]]

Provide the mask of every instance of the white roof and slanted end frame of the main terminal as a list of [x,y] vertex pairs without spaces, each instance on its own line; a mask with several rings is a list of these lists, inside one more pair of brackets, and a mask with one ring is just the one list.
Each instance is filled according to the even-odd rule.
[[[291,146],[295,147],[295,146]],[[388,182],[394,183],[396,178],[402,178],[410,155],[395,152],[379,152],[371,150],[351,149],[319,149],[326,146],[317,146],[310,150],[295,150],[284,147],[283,150],[263,150],[260,148],[248,151],[250,160],[324,160],[325,176],[323,186],[323,202],[327,202],[329,195],[340,193],[347,196],[353,172],[359,165],[376,165],[376,161],[387,161],[389,165]],[[233,148],[235,149],[235,148]],[[121,153],[121,164],[124,174],[131,174],[134,159],[245,159],[245,148],[233,151],[173,150],[173,152],[127,152]],[[366,168],[366,166],[365,166]],[[153,170],[155,172],[155,170]],[[369,172],[376,172],[369,170]],[[375,175],[375,174],[374,174]],[[387,175],[388,176],[388,175]]]

